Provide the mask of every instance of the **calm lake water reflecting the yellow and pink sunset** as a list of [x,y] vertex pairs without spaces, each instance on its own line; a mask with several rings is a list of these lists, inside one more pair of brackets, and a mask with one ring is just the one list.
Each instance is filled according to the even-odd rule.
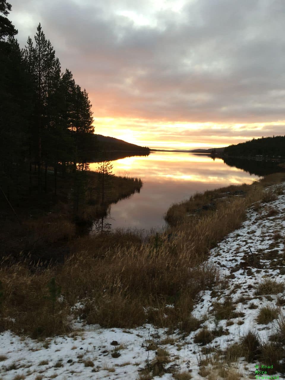
[[[165,226],[163,215],[172,203],[183,201],[196,192],[231,184],[250,184],[258,178],[226,165],[222,159],[204,154],[151,152],[149,156],[126,157],[112,161],[113,173],[139,177],[140,193],[112,204],[111,228],[149,230]],[[260,164],[259,164],[260,165]],[[96,170],[98,163],[90,163]]]

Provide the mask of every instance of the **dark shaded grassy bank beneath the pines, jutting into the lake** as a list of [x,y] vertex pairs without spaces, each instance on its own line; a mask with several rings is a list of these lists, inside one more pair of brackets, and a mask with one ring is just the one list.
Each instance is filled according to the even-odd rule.
[[[74,176],[66,173],[57,179],[57,195],[48,178],[48,191],[29,195],[27,187],[19,189],[11,203],[16,210],[13,214],[4,198],[1,198],[0,212],[0,258],[9,256],[14,263],[29,256],[33,263],[53,260],[63,262],[71,253],[71,242],[82,234],[82,227],[106,214],[111,203],[139,192],[142,181],[138,178],[109,176],[102,204],[100,174],[87,171],[84,187],[79,196],[78,211],[74,214]],[[36,182],[33,174],[32,184]],[[53,176],[52,176],[53,177]],[[11,194],[12,196],[12,194]],[[7,261],[7,260],[6,260]]]

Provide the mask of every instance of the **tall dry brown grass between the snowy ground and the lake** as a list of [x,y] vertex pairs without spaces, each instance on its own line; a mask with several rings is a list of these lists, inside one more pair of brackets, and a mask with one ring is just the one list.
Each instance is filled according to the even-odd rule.
[[[65,334],[71,328],[68,320],[73,313],[102,327],[130,328],[148,322],[179,328],[185,334],[193,331],[201,324],[191,315],[195,297],[218,283],[223,286],[217,269],[206,262],[209,250],[241,225],[253,202],[274,196],[264,195],[264,187],[283,180],[284,173],[275,173],[252,185],[193,196],[170,208],[168,217],[174,215],[175,223],[168,231],[144,243],[130,233],[77,239],[71,233],[66,236],[70,253],[62,264],[43,267],[38,263],[31,268],[28,253],[13,265],[3,259],[0,325],[34,338]],[[217,202],[222,191],[235,192],[237,188],[245,193]],[[215,199],[215,208],[186,217],[187,212],[201,209],[205,199]],[[51,228],[55,233],[58,225]],[[67,226],[64,230],[68,235]],[[53,277],[63,296],[62,302],[55,302],[54,312],[46,298],[47,284]],[[78,302],[81,309],[71,312]]]

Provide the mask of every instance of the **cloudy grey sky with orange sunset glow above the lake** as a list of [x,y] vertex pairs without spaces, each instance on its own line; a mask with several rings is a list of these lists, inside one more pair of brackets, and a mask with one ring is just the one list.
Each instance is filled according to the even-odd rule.
[[92,103],[95,133],[163,149],[285,133],[283,0],[10,0],[41,23]]

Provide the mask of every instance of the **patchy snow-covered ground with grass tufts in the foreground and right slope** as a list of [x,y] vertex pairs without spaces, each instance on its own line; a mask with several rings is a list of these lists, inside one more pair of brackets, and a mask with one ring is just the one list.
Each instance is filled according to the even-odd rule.
[[[285,261],[282,261],[285,249],[285,182],[270,188],[277,189],[283,189],[284,193],[275,201],[261,204],[257,211],[249,209],[242,227],[226,236],[211,251],[209,262],[220,269],[226,286],[220,285],[213,292],[208,290],[199,294],[192,315],[204,320],[200,329],[207,326],[212,330],[221,326],[226,334],[216,337],[206,347],[224,348],[239,341],[249,329],[258,332],[263,340],[274,331],[276,320],[260,325],[255,319],[261,305],[275,307],[276,298],[285,296],[285,293],[255,296],[254,287],[264,278],[277,282],[285,279]],[[234,311],[239,313],[238,317],[231,318],[231,325],[227,320],[217,322],[213,313],[214,302],[222,303],[225,296],[231,297],[236,307]],[[279,306],[281,313],[284,309],[285,306]],[[150,342],[154,347],[169,351],[170,362],[166,368],[175,367],[182,372],[190,370],[192,378],[202,379],[198,374],[198,361],[203,354],[201,346],[194,343],[196,333],[194,331],[183,338],[178,333],[168,336],[165,330],[151,325],[123,330],[74,323],[69,336],[56,336],[39,342],[6,331],[0,334],[0,379],[135,380],[139,369],[155,358],[156,348],[147,350]],[[164,339],[168,341],[163,342]],[[242,378],[249,378],[254,370],[254,364],[240,361]],[[166,380],[173,375],[165,373],[155,378]]]

